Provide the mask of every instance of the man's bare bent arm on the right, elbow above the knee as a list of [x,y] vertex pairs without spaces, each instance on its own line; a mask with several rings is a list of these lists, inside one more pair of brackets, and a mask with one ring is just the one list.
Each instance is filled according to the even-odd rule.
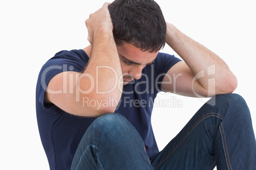
[[167,23],[166,42],[185,63],[176,63],[167,72],[162,83],[163,91],[185,96],[210,97],[232,93],[236,89],[236,77],[226,63],[170,23]]

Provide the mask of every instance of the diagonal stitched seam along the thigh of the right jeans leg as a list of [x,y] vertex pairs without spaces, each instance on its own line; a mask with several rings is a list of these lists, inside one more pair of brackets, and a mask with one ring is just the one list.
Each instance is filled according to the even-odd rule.
[[223,119],[223,118],[224,118],[222,115],[217,114],[217,113],[209,113],[209,114],[206,114],[206,115],[204,115],[203,117],[201,117],[201,119],[199,119],[199,120],[194,124],[194,126],[192,126],[192,128],[190,128],[190,129],[188,130],[188,132],[183,136],[183,138],[181,138],[181,140],[180,140],[180,141],[178,142],[178,144],[173,148],[173,150],[171,150],[171,152],[169,152],[169,154],[167,154],[166,157],[164,157],[164,159],[162,159],[155,167],[153,167],[153,169],[156,169],[158,166],[160,166],[160,164],[162,164],[162,162],[164,162],[164,161],[174,152],[174,150],[176,150],[176,148],[182,143],[182,141],[185,140],[185,138],[187,138],[188,134],[190,134],[190,133],[194,130],[194,128],[196,128],[196,126],[197,126],[200,122],[202,122],[204,119],[206,119],[206,118],[208,118],[208,117],[212,117],[212,116],[218,117],[218,118],[220,118],[220,119]]

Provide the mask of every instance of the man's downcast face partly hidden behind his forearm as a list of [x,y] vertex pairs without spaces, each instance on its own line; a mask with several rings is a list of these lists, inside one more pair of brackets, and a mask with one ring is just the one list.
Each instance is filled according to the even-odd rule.
[[122,67],[122,74],[124,85],[131,82],[133,79],[141,78],[141,71],[153,63],[159,51],[150,53],[148,51],[141,51],[141,48],[124,42],[122,46],[117,46],[118,55]]

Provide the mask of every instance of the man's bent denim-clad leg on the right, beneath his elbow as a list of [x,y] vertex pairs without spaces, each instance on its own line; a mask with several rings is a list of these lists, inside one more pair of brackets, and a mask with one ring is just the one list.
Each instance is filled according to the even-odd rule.
[[255,169],[256,141],[245,100],[229,94],[208,103],[151,160],[154,169]]

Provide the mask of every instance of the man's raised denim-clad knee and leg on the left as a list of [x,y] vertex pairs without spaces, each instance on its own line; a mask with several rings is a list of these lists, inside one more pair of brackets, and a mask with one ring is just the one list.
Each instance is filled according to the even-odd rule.
[[92,122],[76,150],[71,169],[150,169],[143,140],[120,114]]

